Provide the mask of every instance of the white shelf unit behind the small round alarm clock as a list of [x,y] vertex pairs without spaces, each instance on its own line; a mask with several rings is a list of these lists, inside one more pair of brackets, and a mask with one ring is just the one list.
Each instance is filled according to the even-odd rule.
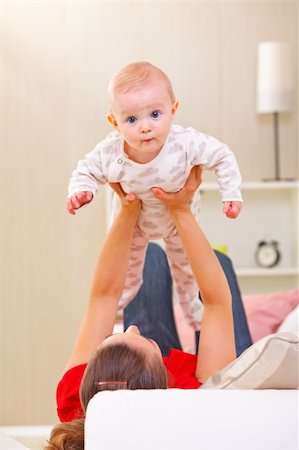
[[[216,182],[203,183],[201,225],[212,245],[225,246],[243,294],[298,289],[298,180],[244,181],[244,208],[236,220],[221,214]],[[261,241],[277,241],[279,265],[255,264]]]

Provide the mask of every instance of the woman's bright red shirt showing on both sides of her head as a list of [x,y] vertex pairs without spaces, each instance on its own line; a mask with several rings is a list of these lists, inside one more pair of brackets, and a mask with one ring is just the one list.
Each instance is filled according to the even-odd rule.
[[[179,389],[198,389],[201,383],[195,378],[197,356],[181,350],[171,349],[169,356],[163,358],[167,373],[168,387]],[[87,364],[69,369],[60,380],[57,392],[57,414],[61,422],[82,417],[79,388]]]

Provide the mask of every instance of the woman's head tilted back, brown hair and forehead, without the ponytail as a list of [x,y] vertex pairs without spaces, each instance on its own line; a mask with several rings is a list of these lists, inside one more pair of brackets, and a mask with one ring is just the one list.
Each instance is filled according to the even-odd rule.
[[167,373],[157,344],[140,335],[137,327],[107,337],[88,363],[82,379],[80,398],[86,410],[100,390],[166,389]]

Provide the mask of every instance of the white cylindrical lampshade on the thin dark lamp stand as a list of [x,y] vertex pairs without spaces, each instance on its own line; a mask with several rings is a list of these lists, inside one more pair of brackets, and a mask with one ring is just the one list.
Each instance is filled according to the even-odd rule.
[[261,42],[257,61],[257,112],[291,111],[294,76],[290,48],[283,42]]

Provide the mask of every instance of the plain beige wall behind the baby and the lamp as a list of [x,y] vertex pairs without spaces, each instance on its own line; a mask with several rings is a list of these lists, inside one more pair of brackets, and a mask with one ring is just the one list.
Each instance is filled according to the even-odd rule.
[[[297,55],[296,1],[0,2],[0,424],[54,423],[55,386],[104,237],[104,195],[71,217],[68,178],[109,130],[106,86],[147,59],[173,80],[177,122],[229,143],[245,180],[273,175],[255,112],[259,41]],[[297,175],[296,113],[281,120]]]

